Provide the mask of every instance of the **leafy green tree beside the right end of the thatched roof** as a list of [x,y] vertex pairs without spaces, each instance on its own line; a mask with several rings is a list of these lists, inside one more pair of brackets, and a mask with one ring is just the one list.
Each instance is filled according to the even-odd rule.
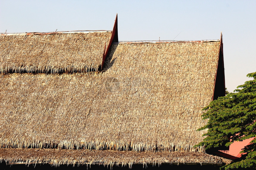
[[[198,129],[208,129],[203,142],[196,146],[205,145],[206,149],[229,146],[234,141],[242,141],[256,137],[256,72],[249,73],[251,81],[238,86],[235,92],[219,97],[203,110],[202,118],[208,119],[207,125]],[[240,159],[223,166],[225,170],[236,168],[256,168],[256,138],[245,146]]]

